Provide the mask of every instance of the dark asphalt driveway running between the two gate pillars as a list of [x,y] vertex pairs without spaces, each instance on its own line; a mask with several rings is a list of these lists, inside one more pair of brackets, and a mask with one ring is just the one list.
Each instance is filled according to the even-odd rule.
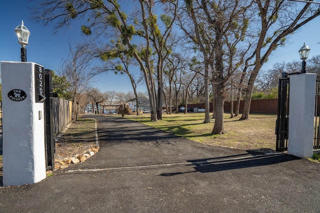
[[39,183],[0,187],[0,212],[320,213],[317,163],[86,116],[97,120],[100,151]]

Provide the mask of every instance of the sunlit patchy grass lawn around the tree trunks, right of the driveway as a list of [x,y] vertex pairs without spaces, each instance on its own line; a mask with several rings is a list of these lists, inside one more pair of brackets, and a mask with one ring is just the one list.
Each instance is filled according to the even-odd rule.
[[[117,115],[116,115],[117,116]],[[125,115],[125,118],[171,132],[175,135],[212,146],[241,150],[275,150],[276,115],[250,114],[249,120],[239,121],[224,114],[223,135],[212,135],[214,119],[203,124],[204,113],[163,114],[162,120],[150,121],[150,115]]]

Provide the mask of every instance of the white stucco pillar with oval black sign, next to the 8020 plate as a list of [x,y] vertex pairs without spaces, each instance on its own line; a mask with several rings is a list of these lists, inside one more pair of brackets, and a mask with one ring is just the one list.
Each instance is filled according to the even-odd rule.
[[44,86],[35,84],[39,66],[1,61],[3,186],[36,183],[46,175],[44,104],[35,102]]

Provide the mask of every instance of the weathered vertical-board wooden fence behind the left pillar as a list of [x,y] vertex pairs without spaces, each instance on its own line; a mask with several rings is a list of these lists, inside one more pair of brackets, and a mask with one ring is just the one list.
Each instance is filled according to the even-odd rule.
[[72,101],[52,98],[53,135],[56,136],[72,119]]

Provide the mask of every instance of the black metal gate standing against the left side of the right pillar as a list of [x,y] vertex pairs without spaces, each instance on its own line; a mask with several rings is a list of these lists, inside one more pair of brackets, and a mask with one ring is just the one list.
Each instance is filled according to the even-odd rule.
[[288,122],[289,122],[289,78],[287,73],[282,73],[278,85],[278,109],[275,122],[276,151],[285,151],[288,147]]

